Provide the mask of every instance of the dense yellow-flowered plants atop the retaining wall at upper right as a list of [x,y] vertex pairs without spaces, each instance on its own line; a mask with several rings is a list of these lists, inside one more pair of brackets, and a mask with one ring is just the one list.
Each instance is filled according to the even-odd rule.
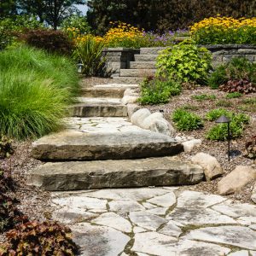
[[190,27],[196,44],[256,44],[256,17],[211,17]]

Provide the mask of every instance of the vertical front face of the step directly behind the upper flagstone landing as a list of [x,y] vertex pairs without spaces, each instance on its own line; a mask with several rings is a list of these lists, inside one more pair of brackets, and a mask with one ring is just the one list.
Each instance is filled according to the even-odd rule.
[[69,109],[73,117],[127,117],[126,106],[79,106]]

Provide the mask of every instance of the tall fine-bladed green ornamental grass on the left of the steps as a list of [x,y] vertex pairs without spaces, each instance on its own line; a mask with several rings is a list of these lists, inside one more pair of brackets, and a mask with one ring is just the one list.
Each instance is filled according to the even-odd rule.
[[22,46],[1,52],[0,67],[0,133],[24,139],[60,129],[79,90],[73,62]]

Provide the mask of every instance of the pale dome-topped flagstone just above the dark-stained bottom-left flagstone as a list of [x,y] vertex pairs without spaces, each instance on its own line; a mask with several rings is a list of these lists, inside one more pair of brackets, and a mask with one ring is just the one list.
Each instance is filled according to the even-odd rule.
[[103,213],[100,217],[93,219],[92,223],[131,233],[131,223],[114,212]]

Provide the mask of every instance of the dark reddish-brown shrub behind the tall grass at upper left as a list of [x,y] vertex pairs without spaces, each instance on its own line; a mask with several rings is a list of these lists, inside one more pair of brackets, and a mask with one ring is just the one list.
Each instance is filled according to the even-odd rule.
[[73,42],[67,34],[53,29],[26,29],[20,34],[20,39],[29,46],[45,49],[49,53],[71,55],[73,50]]

